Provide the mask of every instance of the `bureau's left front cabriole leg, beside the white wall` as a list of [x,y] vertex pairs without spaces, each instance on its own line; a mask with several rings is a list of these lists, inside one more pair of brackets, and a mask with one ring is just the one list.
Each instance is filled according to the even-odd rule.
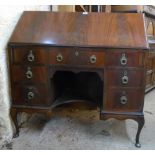
[[13,134],[13,138],[16,138],[19,136],[19,126],[18,126],[18,121],[17,121],[17,110],[12,108],[11,109],[11,117],[12,117],[12,120],[13,120],[13,123],[15,125],[15,133]]

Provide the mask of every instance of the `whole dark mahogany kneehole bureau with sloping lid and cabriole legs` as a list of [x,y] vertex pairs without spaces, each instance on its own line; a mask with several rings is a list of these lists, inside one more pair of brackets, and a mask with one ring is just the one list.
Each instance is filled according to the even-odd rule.
[[144,15],[24,12],[8,43],[11,116],[88,102],[100,119],[133,119],[136,147],[144,125]]

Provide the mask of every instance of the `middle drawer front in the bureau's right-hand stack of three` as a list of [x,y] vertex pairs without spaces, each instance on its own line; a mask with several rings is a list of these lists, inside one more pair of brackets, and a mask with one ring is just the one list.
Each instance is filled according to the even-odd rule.
[[108,87],[144,87],[143,69],[106,69]]

